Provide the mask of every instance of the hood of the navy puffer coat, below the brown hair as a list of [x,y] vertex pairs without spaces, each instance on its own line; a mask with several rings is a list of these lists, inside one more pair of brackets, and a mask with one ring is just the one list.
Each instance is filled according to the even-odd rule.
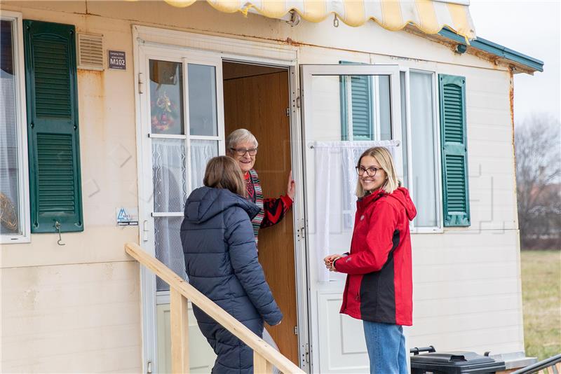
[[241,207],[250,219],[259,213],[257,205],[229,190],[200,187],[187,198],[184,216],[187,221],[203,223],[230,207]]

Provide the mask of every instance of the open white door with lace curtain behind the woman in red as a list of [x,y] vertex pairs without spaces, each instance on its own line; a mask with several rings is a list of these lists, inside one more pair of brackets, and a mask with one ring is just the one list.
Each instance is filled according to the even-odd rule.
[[402,133],[399,68],[301,65],[300,73],[311,372],[367,373],[362,321],[339,314],[345,277],[327,272],[323,257],[349,251],[356,202],[353,167],[360,153],[373,141],[386,141],[403,174],[403,151],[397,145]]

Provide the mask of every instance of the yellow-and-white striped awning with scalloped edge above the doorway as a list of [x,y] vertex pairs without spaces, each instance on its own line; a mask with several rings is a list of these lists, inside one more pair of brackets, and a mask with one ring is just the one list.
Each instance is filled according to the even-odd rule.
[[[164,0],[177,7],[186,7],[196,0]],[[221,12],[250,9],[265,17],[283,18],[295,11],[309,22],[320,22],[330,15],[349,26],[360,26],[374,20],[384,29],[397,31],[409,24],[426,34],[437,34],[443,27],[452,29],[466,39],[475,38],[469,14],[469,0],[207,0]]]

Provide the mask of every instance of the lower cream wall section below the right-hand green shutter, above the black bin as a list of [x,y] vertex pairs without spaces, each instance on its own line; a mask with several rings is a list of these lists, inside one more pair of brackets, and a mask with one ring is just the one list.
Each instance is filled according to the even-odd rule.
[[412,347],[524,350],[517,230],[413,235],[412,246]]

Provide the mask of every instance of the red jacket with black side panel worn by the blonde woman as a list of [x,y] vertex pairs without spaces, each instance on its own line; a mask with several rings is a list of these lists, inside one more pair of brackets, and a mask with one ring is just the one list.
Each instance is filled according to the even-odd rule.
[[409,221],[417,209],[406,188],[377,191],[356,203],[349,256],[334,263],[347,275],[341,313],[411,326],[413,282]]

